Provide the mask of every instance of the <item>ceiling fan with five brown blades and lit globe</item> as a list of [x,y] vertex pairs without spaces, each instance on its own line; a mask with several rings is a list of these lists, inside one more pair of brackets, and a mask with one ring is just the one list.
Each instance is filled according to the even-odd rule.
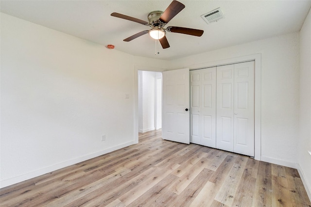
[[137,37],[140,37],[141,35],[149,33],[149,35],[152,38],[159,40],[162,48],[165,49],[165,48],[170,47],[170,44],[165,36],[166,32],[189,34],[189,35],[198,36],[198,37],[202,36],[204,32],[203,30],[196,30],[196,29],[190,29],[190,28],[185,28],[185,27],[169,26],[167,28],[164,28],[164,26],[184,8],[185,8],[184,4],[180,3],[179,1],[173,0],[172,3],[169,5],[169,7],[164,12],[153,11],[149,13],[148,15],[149,22],[146,22],[144,20],[140,20],[138,18],[134,18],[131,16],[122,15],[119,13],[112,13],[111,16],[119,17],[122,19],[127,19],[130,21],[137,22],[139,24],[152,27],[152,29],[150,30],[138,32],[137,34],[134,34],[124,39],[123,41],[129,42],[131,40],[134,40]]

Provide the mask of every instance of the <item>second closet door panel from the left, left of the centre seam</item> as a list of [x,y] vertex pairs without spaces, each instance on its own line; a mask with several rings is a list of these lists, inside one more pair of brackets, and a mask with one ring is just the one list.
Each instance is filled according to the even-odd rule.
[[201,144],[216,147],[216,67],[201,70]]

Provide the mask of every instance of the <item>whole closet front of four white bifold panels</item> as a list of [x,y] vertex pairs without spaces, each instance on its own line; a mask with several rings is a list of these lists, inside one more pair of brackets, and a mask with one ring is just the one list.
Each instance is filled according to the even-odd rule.
[[254,61],[190,71],[190,142],[254,156]]

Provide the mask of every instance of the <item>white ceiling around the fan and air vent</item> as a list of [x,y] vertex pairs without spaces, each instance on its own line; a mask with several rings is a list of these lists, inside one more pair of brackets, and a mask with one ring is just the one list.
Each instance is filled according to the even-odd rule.
[[[179,0],[186,8],[167,26],[204,30],[201,37],[167,33],[170,48],[148,34],[131,42],[123,39],[151,29],[110,16],[117,12],[148,21],[171,0],[1,0],[1,12],[137,56],[172,60],[300,30],[311,0]],[[207,24],[201,15],[220,7],[225,18]],[[103,47],[104,48],[104,47]],[[107,49],[107,48],[104,48]]]

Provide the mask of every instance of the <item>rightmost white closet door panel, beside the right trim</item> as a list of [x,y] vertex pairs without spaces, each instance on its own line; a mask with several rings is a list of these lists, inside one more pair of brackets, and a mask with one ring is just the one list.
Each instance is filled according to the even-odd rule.
[[234,152],[254,157],[254,62],[234,64]]

